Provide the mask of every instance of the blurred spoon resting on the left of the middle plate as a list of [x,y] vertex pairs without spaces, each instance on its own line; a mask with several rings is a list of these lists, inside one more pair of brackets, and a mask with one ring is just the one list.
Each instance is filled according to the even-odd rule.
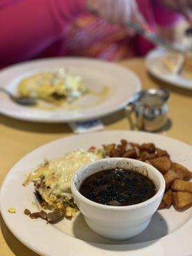
[[37,98],[35,97],[22,97],[22,96],[16,96],[10,93],[8,90],[6,90],[3,87],[0,87],[0,92],[6,93],[12,99],[15,103],[25,106],[34,106],[37,103]]

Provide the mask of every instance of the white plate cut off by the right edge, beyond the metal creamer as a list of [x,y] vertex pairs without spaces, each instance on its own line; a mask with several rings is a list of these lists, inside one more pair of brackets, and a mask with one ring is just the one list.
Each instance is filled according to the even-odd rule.
[[148,52],[145,58],[145,65],[148,72],[166,83],[173,84],[180,88],[192,89],[192,80],[186,79],[182,77],[182,75],[169,74],[164,70],[163,65],[161,64],[161,58],[165,54],[167,54],[167,52],[163,49],[154,49]]

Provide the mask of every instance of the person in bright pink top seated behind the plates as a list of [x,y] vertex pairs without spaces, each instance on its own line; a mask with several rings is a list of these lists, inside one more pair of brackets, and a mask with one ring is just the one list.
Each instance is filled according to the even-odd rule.
[[52,56],[114,61],[145,54],[152,44],[134,35],[126,22],[150,25],[154,31],[157,26],[170,28],[179,19],[175,11],[190,19],[190,4],[188,0],[1,0],[0,68]]

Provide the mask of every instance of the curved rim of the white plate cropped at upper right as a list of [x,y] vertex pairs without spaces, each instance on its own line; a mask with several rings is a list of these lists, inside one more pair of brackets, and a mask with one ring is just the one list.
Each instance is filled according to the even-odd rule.
[[[158,56],[161,57],[162,54],[164,54],[165,51],[163,49],[153,49],[152,51],[148,52],[147,56],[145,57],[145,65],[147,67],[147,70],[152,76],[157,77],[158,79],[173,84],[180,88],[186,88],[192,90],[192,81],[189,79],[184,79],[180,76],[173,76],[169,74],[163,74],[162,72],[157,72],[157,70],[154,70],[151,63],[154,58],[157,58]],[[179,77],[179,79],[177,79]]]

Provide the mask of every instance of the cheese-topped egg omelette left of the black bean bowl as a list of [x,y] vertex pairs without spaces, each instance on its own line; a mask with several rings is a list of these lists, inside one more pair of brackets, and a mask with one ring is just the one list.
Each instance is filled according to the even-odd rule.
[[[36,192],[49,209],[61,209],[66,205],[76,208],[70,191],[72,175],[85,164],[103,157],[102,150],[93,152],[78,149],[40,165],[35,172],[28,175],[24,185],[34,182]],[[72,209],[68,208],[68,211]]]

